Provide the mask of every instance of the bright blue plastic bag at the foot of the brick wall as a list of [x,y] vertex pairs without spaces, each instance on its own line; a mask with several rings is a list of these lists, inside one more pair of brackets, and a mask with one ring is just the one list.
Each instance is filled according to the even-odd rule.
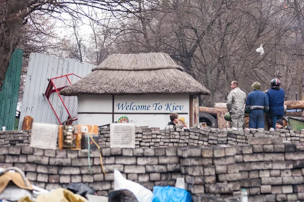
[[185,189],[177,187],[153,187],[153,202],[191,202],[192,197]]

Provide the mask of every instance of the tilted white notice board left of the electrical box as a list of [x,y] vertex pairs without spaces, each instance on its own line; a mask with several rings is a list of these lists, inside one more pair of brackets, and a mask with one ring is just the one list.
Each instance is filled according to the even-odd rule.
[[33,123],[30,146],[42,149],[56,149],[58,125]]

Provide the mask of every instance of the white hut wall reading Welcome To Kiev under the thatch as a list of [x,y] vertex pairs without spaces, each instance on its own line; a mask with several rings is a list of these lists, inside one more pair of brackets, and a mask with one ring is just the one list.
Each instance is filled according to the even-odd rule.
[[[104,125],[129,121],[136,126],[164,128],[171,113],[189,123],[189,95],[81,95],[79,124]],[[114,100],[114,104],[112,103]],[[110,114],[113,110],[113,114]],[[113,116],[113,117],[112,117]],[[189,124],[188,124],[189,126]]]

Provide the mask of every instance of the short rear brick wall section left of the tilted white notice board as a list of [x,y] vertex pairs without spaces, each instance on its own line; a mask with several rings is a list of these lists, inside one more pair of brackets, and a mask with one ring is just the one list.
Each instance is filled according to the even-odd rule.
[[30,130],[0,131],[0,146],[29,145]]

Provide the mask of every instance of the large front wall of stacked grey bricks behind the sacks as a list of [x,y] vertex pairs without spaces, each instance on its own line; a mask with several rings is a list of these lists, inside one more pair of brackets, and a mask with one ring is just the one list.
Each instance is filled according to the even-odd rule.
[[230,197],[247,189],[249,201],[304,200],[304,144],[283,144],[281,138],[249,138],[250,145],[167,148],[103,148],[44,150],[28,146],[1,147],[0,166],[17,166],[32,184],[48,190],[83,182],[99,195],[113,189],[113,170],[148,189],[174,186],[184,177],[194,201],[214,195]]

